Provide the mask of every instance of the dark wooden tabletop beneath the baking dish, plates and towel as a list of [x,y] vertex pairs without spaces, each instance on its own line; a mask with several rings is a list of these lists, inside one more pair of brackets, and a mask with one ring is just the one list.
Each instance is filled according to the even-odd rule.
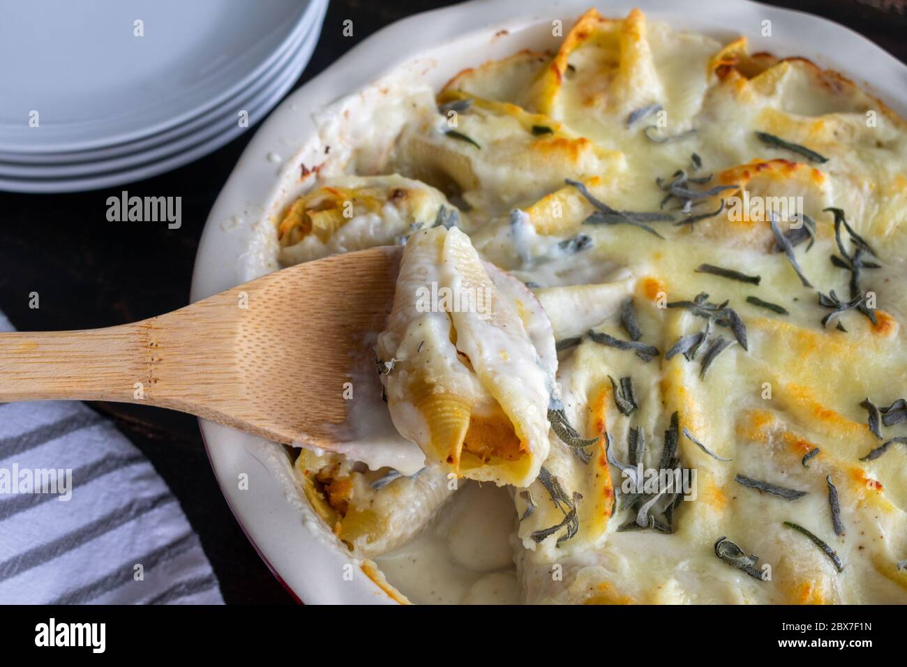
[[[315,54],[296,85],[384,25],[450,4],[332,0]],[[907,61],[904,0],[770,4],[824,15]],[[598,5],[606,11],[607,3]],[[352,37],[342,34],[346,19],[353,21]],[[0,309],[18,329],[58,330],[122,324],[184,306],[202,226],[254,132],[250,128],[219,151],[174,172],[109,190],[56,195],[0,192]],[[166,223],[107,221],[106,200],[122,190],[139,196],[182,197],[182,226],[169,230]],[[40,295],[40,309],[29,308],[33,291]],[[180,499],[218,575],[224,600],[292,602],[230,514],[194,417],[112,403],[92,407],[112,418]]]

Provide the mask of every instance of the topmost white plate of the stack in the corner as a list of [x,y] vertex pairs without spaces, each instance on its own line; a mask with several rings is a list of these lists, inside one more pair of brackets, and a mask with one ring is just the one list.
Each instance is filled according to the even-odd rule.
[[0,150],[88,149],[182,123],[267,71],[312,10],[298,0],[2,0]]

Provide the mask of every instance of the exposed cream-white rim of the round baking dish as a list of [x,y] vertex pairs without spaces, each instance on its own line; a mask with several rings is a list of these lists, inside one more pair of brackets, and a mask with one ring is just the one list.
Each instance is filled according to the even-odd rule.
[[[256,134],[220,192],[199,246],[192,277],[191,299],[198,300],[273,270],[275,259],[263,235],[273,234],[271,218],[288,201],[298,182],[300,162],[315,164],[316,125],[313,112],[378,78],[392,73],[408,81],[440,87],[464,67],[501,58],[522,48],[557,44],[551,21],[565,27],[582,14],[590,0],[476,0],[416,15],[372,35],[284,101]],[[907,114],[907,67],[853,31],[799,12],[757,5],[746,0],[613,0],[606,15],[622,16],[639,6],[653,20],[666,20],[681,30],[710,34],[727,42],[746,34],[756,51],[804,55],[816,64],[870,82],[873,93]],[[771,38],[762,37],[762,21],[773,24]],[[507,34],[498,34],[500,30]],[[346,98],[355,115],[364,95]],[[297,152],[279,176],[268,154]],[[299,378],[300,382],[305,378]],[[275,476],[276,447],[259,438],[200,420],[211,466],[234,515],[258,553],[289,590],[306,603],[387,603],[378,586],[356,570],[352,581],[341,573],[349,555],[327,546],[317,532],[303,525],[298,499],[288,502]],[[249,488],[240,490],[241,473]]]

